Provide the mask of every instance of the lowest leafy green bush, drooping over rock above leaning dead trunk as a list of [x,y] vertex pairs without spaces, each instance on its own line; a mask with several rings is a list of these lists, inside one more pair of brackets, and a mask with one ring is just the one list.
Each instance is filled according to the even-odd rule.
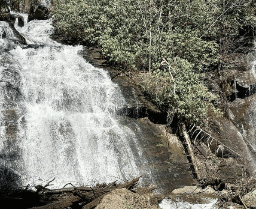
[[180,119],[196,123],[207,121],[209,113],[221,115],[221,111],[211,103],[217,96],[202,84],[200,75],[193,72],[192,65],[180,58],[175,58],[173,63],[174,80],[168,71],[159,69],[144,79],[144,90],[151,95],[152,101],[168,109],[170,116],[177,114]]

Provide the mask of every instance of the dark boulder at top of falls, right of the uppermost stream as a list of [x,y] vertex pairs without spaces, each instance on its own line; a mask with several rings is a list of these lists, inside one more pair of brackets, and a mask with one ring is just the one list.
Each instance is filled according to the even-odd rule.
[[48,9],[46,6],[31,6],[30,12],[28,14],[27,22],[32,20],[47,20],[48,19]]

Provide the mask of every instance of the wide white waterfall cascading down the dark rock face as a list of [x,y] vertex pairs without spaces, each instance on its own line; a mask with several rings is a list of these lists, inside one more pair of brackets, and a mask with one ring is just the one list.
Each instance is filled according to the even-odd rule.
[[13,34],[0,22],[0,180],[6,172],[23,185],[56,176],[55,186],[150,176],[136,134],[115,114],[125,100],[108,73],[79,57],[82,46],[49,39],[49,20],[16,29],[30,45],[8,46]]

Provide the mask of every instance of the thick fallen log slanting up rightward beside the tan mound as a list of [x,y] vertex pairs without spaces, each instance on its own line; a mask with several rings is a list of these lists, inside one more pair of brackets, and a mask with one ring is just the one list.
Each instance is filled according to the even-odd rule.
[[[113,191],[113,190],[121,189],[121,188],[126,188],[126,189],[128,189],[128,190],[131,190],[131,189],[134,188],[134,186],[139,182],[140,177],[141,177],[141,176],[137,177],[136,179],[131,180],[130,182],[126,182],[126,183],[124,183],[124,184],[122,184],[122,185],[119,185],[118,187],[113,188],[113,189],[111,189],[111,190]],[[105,193],[105,194],[102,194],[100,197],[96,198],[95,200],[93,200],[93,201],[91,201],[90,203],[88,203],[88,204],[86,204],[85,206],[83,206],[82,209],[92,209],[92,208],[96,207],[96,206],[101,202],[101,200],[103,199],[103,197],[105,197],[105,196],[106,196],[107,194],[109,194],[109,193],[110,193],[110,191],[108,191],[108,192]]]

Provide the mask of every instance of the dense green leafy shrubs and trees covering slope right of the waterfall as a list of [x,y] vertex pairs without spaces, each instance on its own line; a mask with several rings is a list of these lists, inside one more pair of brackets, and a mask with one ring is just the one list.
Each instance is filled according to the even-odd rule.
[[202,123],[222,113],[205,73],[238,36],[254,33],[254,0],[55,0],[54,26],[98,45],[112,64],[142,74],[141,86],[174,116]]

